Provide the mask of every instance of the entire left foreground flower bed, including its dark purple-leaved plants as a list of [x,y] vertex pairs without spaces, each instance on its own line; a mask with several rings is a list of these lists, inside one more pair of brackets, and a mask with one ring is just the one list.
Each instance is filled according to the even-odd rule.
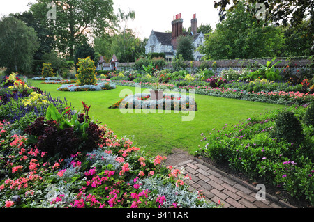
[[165,165],[166,157],[147,157],[91,121],[91,106],[82,102],[80,113],[36,91],[0,104],[0,113],[29,107],[24,120],[0,118],[0,207],[222,207],[190,192],[189,176]]

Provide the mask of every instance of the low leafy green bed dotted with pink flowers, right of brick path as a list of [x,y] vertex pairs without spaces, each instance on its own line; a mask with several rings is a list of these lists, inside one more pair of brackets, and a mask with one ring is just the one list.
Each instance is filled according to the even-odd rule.
[[[301,122],[307,108],[290,106]],[[282,110],[202,134],[206,143],[196,154],[227,164],[253,178],[263,178],[314,204],[313,129],[303,125],[304,140],[297,144],[273,138],[275,120]],[[294,135],[293,135],[294,136]]]

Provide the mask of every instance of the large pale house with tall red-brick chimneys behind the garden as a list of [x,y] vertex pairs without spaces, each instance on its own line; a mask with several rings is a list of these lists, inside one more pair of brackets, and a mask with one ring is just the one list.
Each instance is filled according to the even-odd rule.
[[151,35],[145,46],[145,53],[165,53],[166,61],[172,61],[172,58],[177,53],[177,40],[181,35],[192,35],[193,36],[193,46],[194,52],[193,57],[195,61],[200,61],[200,58],[204,56],[199,51],[197,47],[204,44],[204,34],[197,33],[197,18],[196,14],[193,15],[191,20],[191,32],[183,32],[183,19],[181,19],[181,13],[173,17],[172,24],[172,33],[157,32],[152,30]]

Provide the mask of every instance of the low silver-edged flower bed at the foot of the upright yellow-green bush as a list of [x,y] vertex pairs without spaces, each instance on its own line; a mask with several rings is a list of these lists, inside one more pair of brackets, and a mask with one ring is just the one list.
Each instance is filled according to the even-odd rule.
[[70,92],[78,92],[78,91],[100,91],[100,90],[111,90],[117,88],[116,85],[103,82],[98,83],[96,85],[83,85],[79,86],[78,84],[66,84],[62,85],[58,88],[59,91],[70,91]]

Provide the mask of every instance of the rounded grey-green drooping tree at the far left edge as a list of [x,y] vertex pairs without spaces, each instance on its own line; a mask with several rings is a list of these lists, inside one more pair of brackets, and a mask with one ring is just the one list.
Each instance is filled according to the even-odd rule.
[[0,66],[7,72],[29,72],[38,49],[36,31],[15,17],[0,20]]

